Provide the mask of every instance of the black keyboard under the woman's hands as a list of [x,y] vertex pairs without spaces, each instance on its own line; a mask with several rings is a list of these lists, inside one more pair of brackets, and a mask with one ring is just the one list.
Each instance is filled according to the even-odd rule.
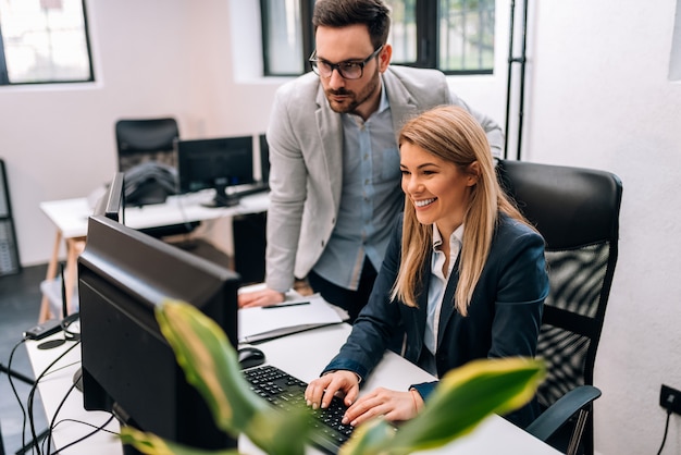
[[[251,390],[267,399],[272,406],[283,410],[306,406],[305,389],[307,383],[271,365],[244,370]],[[326,409],[310,408],[313,416],[310,442],[330,454],[338,453],[338,448],[350,438],[352,427],[340,423],[347,406],[338,397],[334,397]]]

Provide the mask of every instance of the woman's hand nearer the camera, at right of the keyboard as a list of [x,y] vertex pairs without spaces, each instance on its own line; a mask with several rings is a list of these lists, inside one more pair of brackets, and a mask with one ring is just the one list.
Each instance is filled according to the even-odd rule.
[[[420,406],[411,392],[396,392],[379,388],[362,395],[345,413],[343,423],[357,427],[374,417],[389,421],[409,420],[417,416]],[[421,399],[421,396],[418,396]]]

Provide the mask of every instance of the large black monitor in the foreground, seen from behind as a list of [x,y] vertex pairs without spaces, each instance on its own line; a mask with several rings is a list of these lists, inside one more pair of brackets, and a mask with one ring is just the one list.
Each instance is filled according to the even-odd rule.
[[[111,200],[111,199],[110,199]],[[88,221],[78,258],[83,399],[123,423],[187,445],[235,447],[185,380],[154,308],[185,300],[237,345],[239,276],[104,214]]]

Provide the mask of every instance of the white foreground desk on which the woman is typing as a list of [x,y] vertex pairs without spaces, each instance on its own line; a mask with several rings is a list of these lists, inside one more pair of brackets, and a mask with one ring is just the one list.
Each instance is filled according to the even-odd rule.
[[[332,355],[336,353],[345,342],[349,331],[350,327],[347,324],[331,325],[273,340],[259,344],[258,347],[265,353],[268,362],[309,382],[319,376],[319,372],[331,359]],[[52,351],[39,351],[37,349],[38,343],[40,342],[28,342],[27,344],[28,355],[36,377],[63,351],[62,347]],[[48,421],[51,420],[51,416],[54,414],[59,403],[71,386],[73,372],[78,367],[79,355],[79,348],[74,349],[66,359],[59,364],[59,367],[63,368],[50,373],[44,381],[40,381],[38,385]],[[428,381],[430,378],[429,373],[409,364],[396,354],[387,353],[374,373],[367,380],[363,390],[372,390],[377,385],[406,390],[409,384]],[[99,411],[86,411],[83,409],[81,393],[73,392],[60,413],[58,420],[64,418],[73,418],[94,425],[100,425],[107,420],[108,415]],[[116,431],[117,423],[110,425],[109,429]],[[64,422],[59,425],[54,430],[53,440],[55,445],[61,447],[88,433],[90,430],[89,427],[84,425]],[[243,453],[261,453],[246,438],[239,439],[239,448]],[[310,454],[319,454],[314,448],[310,448],[308,452]],[[110,434],[101,432],[73,446],[71,450],[61,453],[63,455],[92,453],[99,455],[121,455],[122,448],[121,444],[112,440]],[[559,454],[559,452],[544,444],[542,441],[498,416],[490,416],[472,433],[445,447],[429,451],[428,453],[456,453],[457,455],[487,455],[497,453],[508,455]]]

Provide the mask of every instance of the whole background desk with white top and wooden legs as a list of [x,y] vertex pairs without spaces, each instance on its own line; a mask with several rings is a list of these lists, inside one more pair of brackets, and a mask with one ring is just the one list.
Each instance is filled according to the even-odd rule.
[[[164,204],[127,207],[125,208],[124,221],[126,225],[134,229],[158,228],[258,213],[267,211],[270,202],[269,195],[260,193],[243,197],[239,200],[239,205],[234,207],[203,207],[201,202],[212,200],[213,195],[214,192],[208,189],[194,194],[170,196]],[[54,247],[48,263],[46,280],[50,281],[57,276],[59,251],[63,241],[66,247],[64,285],[66,288],[66,305],[71,309],[71,298],[76,283],[77,258],[85,247],[87,220],[92,214],[94,209],[85,197],[40,202],[40,209],[57,228]],[[44,297],[38,320],[42,322],[49,318],[49,302],[47,297]]]

